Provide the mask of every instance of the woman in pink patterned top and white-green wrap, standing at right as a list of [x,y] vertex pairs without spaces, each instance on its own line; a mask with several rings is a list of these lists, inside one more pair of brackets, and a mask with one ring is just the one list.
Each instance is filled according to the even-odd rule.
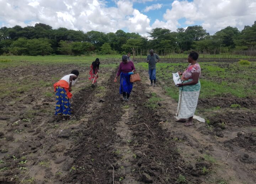
[[176,122],[186,122],[185,126],[194,125],[193,115],[196,111],[197,101],[201,84],[199,77],[201,75],[201,67],[197,63],[198,53],[190,52],[188,55],[188,63],[190,63],[187,69],[179,75],[182,75],[182,83],[177,84],[180,87],[179,102],[176,118]]

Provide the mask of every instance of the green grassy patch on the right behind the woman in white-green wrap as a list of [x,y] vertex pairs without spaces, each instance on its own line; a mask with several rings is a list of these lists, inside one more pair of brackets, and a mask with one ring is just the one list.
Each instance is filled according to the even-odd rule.
[[[230,94],[236,97],[256,95],[256,62],[249,65],[227,62],[199,63],[202,69],[202,85],[199,98],[209,98]],[[178,100],[178,88],[173,85],[172,73],[183,71],[188,63],[158,63],[156,71],[160,81],[165,82],[165,90]],[[147,69],[147,63],[138,63],[139,68]]]

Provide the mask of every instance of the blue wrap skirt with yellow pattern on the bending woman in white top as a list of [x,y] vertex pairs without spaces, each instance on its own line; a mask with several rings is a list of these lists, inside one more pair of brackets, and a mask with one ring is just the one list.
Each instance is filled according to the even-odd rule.
[[66,95],[66,90],[63,87],[57,86],[55,96],[56,96],[55,115],[62,114],[63,116],[70,116],[71,109],[70,109],[69,98]]

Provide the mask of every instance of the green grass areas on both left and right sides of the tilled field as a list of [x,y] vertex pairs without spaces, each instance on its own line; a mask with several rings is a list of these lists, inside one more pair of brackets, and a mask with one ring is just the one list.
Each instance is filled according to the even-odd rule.
[[[177,54],[177,58],[184,54]],[[55,64],[70,64],[89,67],[95,58],[100,58],[101,67],[115,68],[121,61],[121,55],[95,55],[95,56],[0,56],[0,68],[22,67],[31,64],[39,65],[55,65]],[[148,69],[147,63],[135,64],[138,69]],[[165,83],[165,90],[175,100],[178,100],[178,88],[173,85],[172,73],[183,71],[188,63],[158,63],[157,77]],[[200,82],[202,85],[200,97],[208,98],[230,94],[235,97],[253,97],[256,95],[256,62],[251,62],[249,65],[241,65],[238,63],[229,62],[207,62],[200,63],[202,68],[202,76]],[[83,75],[83,74],[82,74]],[[86,74],[87,75],[87,74]],[[52,76],[53,80],[57,80]],[[26,80],[26,79],[25,79]],[[5,80],[4,80],[5,81]],[[7,80],[6,80],[7,82]],[[35,83],[35,84],[34,84]],[[10,94],[10,88],[14,87],[18,91],[29,90],[31,86],[36,85],[32,82],[27,86],[20,86],[18,82],[10,84],[7,82],[1,83],[0,87],[5,90],[6,94]],[[41,83],[44,83],[41,81]],[[34,84],[34,85],[33,85]],[[49,82],[42,85],[51,85]],[[29,87],[30,86],[30,87]],[[5,94],[1,94],[3,96]]]

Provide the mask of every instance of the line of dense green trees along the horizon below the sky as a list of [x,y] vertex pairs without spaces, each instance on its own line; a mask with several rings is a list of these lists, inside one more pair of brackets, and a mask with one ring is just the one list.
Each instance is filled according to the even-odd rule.
[[256,21],[243,30],[226,27],[210,35],[200,25],[178,28],[171,31],[155,28],[149,32],[149,38],[138,33],[102,33],[100,31],[52,29],[50,25],[37,23],[22,28],[0,29],[0,54],[48,55],[48,54],[124,54],[145,55],[154,49],[160,55],[186,53],[196,50],[205,54],[236,53],[254,55],[256,45]]

